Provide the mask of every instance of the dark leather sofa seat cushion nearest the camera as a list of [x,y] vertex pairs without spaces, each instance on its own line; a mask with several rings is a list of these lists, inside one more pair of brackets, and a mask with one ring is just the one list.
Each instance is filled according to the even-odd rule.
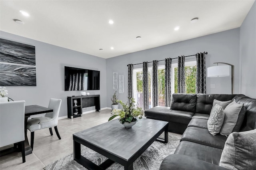
[[191,156],[211,164],[219,165],[222,151],[222,149],[206,146],[203,144],[181,141],[174,154]]

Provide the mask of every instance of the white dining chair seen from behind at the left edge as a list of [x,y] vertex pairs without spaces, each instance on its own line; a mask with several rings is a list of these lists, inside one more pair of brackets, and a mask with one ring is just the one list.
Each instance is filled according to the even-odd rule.
[[25,159],[25,101],[0,103],[0,147],[21,143],[22,162]]

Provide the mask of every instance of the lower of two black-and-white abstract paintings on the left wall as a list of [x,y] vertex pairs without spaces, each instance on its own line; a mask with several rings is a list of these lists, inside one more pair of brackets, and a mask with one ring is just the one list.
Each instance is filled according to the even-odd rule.
[[0,63],[0,86],[36,86],[36,67]]

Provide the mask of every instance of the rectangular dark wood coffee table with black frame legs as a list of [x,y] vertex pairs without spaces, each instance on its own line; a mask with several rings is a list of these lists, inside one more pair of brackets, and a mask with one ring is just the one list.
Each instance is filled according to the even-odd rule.
[[[158,138],[164,132],[164,138]],[[73,134],[74,160],[89,170],[103,170],[114,162],[133,169],[133,162],[155,140],[168,142],[168,122],[140,119],[126,129],[118,119]],[[81,156],[81,144],[106,156],[108,160],[96,165]]]

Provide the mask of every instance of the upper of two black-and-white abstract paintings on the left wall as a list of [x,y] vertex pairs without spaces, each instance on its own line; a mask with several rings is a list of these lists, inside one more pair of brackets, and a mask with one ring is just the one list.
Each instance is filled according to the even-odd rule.
[[0,38],[0,61],[36,65],[35,46]]

